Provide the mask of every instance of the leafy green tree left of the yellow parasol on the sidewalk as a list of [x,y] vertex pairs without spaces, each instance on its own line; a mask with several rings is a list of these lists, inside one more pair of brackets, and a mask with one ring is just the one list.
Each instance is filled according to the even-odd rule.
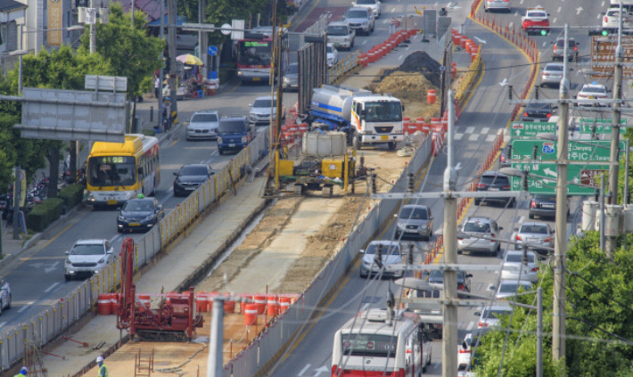
[[[152,37],[145,29],[147,18],[143,12],[135,12],[134,28],[129,12],[118,3],[111,3],[108,23],[96,25],[95,50],[109,61],[111,74],[127,78],[127,94],[134,98],[151,90],[155,70],[160,70],[165,42]],[[79,51],[89,51],[90,33],[81,37]]]

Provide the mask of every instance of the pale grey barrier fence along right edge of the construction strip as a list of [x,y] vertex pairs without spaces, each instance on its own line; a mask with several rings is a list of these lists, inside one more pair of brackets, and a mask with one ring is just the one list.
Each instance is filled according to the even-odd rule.
[[[408,172],[423,168],[424,163],[431,158],[431,152],[431,137],[427,137],[422,146],[415,151],[409,169],[403,171],[390,192],[406,191]],[[261,372],[262,368],[270,366],[269,363],[275,361],[274,357],[279,350],[295,340],[296,332],[308,322],[321,300],[325,298],[325,294],[331,292],[341,277],[347,273],[358,255],[358,250],[363,249],[366,243],[379,233],[381,227],[393,217],[399,205],[399,201],[380,201],[371,209],[306,291],[300,294],[283,315],[277,317],[264,332],[225,365],[224,377],[253,376]]]

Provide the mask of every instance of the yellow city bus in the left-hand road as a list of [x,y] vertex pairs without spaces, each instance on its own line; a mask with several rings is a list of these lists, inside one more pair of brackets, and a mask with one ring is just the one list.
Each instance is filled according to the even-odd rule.
[[86,170],[87,203],[117,206],[139,193],[152,195],[160,184],[156,137],[125,135],[125,143],[93,144]]

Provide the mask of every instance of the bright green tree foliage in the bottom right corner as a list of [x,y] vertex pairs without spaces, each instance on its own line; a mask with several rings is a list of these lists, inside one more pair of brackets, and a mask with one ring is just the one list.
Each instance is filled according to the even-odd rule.
[[[633,374],[633,254],[627,245],[633,235],[622,237],[611,261],[599,250],[599,235],[588,232],[573,242],[567,262],[567,339],[564,365],[552,359],[551,332],[553,275],[543,274],[544,375],[566,372],[573,376],[630,376]],[[535,296],[517,299],[535,305]],[[536,313],[516,308],[512,324],[502,320],[501,331],[481,337],[477,350],[477,375],[496,375],[510,329],[502,375],[533,376],[536,365]]]

